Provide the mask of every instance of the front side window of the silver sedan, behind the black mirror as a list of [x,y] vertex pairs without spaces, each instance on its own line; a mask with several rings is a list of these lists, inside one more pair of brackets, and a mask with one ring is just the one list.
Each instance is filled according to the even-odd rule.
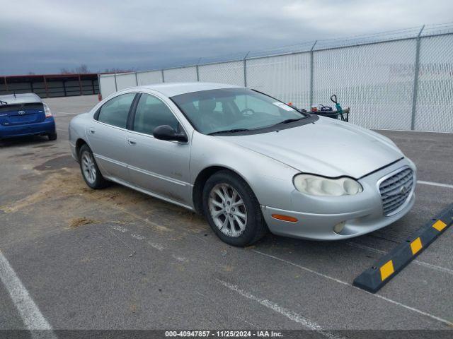
[[161,125],[170,125],[178,131],[179,123],[164,102],[153,95],[142,94],[135,111],[133,130],[152,135]]

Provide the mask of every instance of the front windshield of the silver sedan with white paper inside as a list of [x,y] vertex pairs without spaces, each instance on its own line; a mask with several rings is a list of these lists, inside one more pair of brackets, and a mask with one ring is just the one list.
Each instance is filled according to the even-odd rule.
[[222,88],[171,97],[197,131],[204,134],[265,129],[308,117],[248,88]]

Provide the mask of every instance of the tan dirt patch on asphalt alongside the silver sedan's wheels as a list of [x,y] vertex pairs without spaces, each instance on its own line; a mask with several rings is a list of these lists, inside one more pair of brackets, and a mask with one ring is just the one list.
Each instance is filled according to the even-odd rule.
[[[56,158],[50,161],[54,161],[50,164],[62,165],[66,160]],[[102,209],[107,213],[109,210],[115,210],[111,215],[105,215],[103,219],[110,220],[109,222],[139,220],[142,225],[167,233],[168,236],[175,238],[173,240],[183,239],[191,234],[206,233],[209,230],[209,225],[201,216],[124,186],[112,184],[105,189],[90,189],[81,177],[78,167],[63,167],[56,168],[55,171],[44,170],[35,173],[41,177],[39,186],[33,186],[33,190],[28,189],[30,194],[25,198],[0,206],[0,210],[5,213],[28,215],[51,213],[55,220],[65,220],[66,227],[71,218],[81,215],[93,218],[95,215],[92,214],[93,210]],[[27,182],[21,184],[26,189]],[[43,210],[42,206],[47,210]],[[174,232],[176,230],[177,232]]]

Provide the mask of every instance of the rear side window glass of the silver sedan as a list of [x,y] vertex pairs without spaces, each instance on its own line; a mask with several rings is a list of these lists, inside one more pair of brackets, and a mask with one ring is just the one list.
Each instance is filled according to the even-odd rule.
[[127,93],[118,95],[105,102],[99,111],[98,121],[125,129],[127,115],[129,114],[130,105],[132,105],[135,94]]

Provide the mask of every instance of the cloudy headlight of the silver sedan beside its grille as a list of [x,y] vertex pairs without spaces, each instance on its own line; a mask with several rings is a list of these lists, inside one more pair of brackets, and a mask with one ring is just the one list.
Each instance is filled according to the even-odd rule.
[[353,196],[363,191],[362,185],[354,179],[329,179],[312,174],[297,174],[294,177],[294,187],[297,191],[312,196]]

